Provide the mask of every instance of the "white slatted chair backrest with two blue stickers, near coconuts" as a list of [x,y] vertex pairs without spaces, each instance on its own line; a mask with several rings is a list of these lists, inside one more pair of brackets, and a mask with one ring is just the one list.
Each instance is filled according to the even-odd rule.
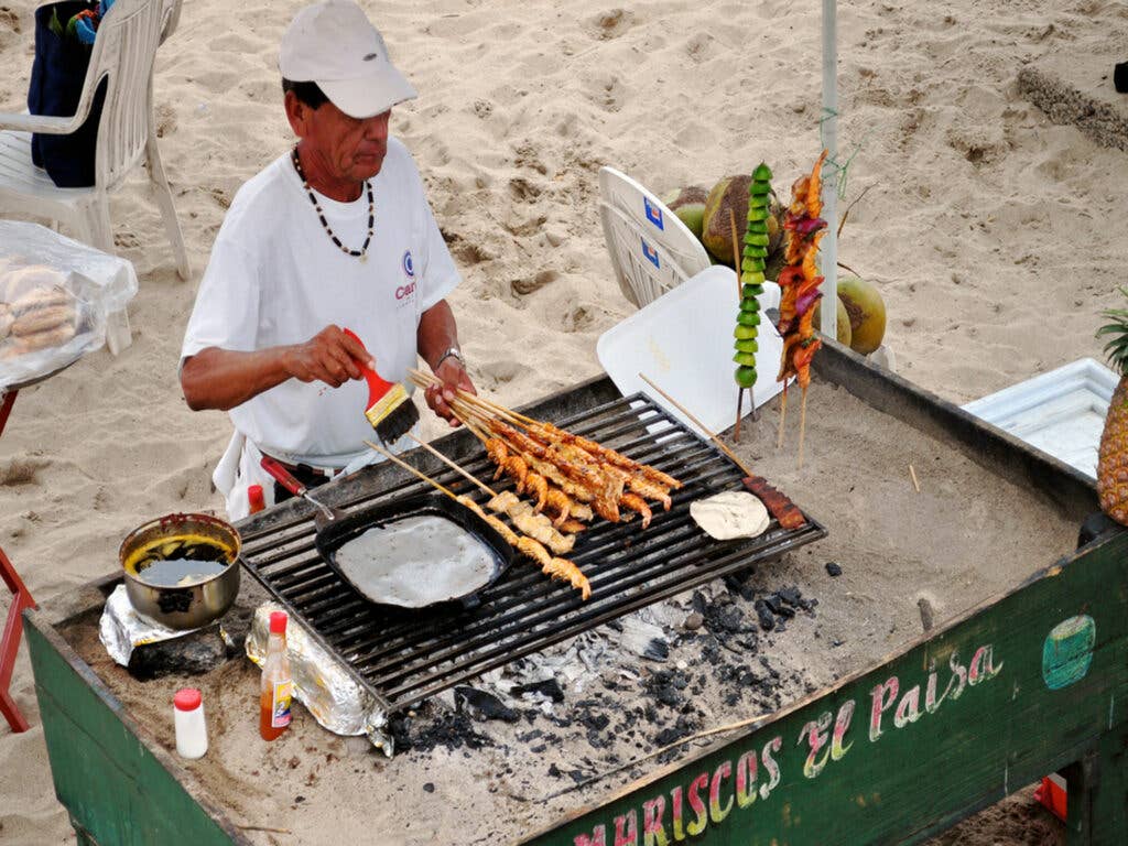
[[623,296],[638,307],[712,265],[688,227],[654,194],[615,168],[599,170],[599,214]]

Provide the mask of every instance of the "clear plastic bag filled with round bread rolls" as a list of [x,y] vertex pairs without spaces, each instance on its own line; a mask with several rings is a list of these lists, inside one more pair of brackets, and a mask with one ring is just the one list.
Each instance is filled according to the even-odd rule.
[[0,391],[106,343],[138,291],[133,265],[37,223],[0,221]]

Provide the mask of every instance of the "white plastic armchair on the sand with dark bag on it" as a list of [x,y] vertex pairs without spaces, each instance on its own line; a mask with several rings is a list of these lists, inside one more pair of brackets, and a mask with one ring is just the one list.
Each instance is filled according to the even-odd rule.
[[[78,240],[113,253],[108,194],[122,185],[144,156],[176,271],[182,279],[188,277],[184,236],[157,149],[152,107],[157,46],[171,35],[179,14],[180,0],[117,0],[98,27],[74,115],[0,114],[0,130],[9,130],[0,131],[0,213],[56,221],[70,227]],[[87,188],[56,187],[46,171],[32,162],[30,133],[65,135],[77,130],[90,112],[98,85],[107,77],[98,123],[95,184]],[[127,325],[124,328],[127,332]]]

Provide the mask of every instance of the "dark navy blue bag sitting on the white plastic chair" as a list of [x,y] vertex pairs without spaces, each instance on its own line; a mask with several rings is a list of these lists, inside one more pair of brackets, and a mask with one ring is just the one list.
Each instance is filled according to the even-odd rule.
[[[78,108],[90,64],[90,46],[76,37],[52,32],[52,17],[58,15],[65,29],[67,21],[86,9],[97,9],[96,2],[63,0],[35,10],[35,61],[27,90],[27,111],[33,115],[69,117]],[[106,99],[106,81],[102,80],[90,105],[90,114],[69,135],[32,135],[32,161],[47,171],[60,188],[94,185],[94,152],[98,142],[98,121]]]

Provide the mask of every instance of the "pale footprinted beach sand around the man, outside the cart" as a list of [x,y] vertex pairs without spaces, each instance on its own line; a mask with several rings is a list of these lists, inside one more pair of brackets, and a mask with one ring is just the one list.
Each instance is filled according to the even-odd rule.
[[[472,373],[509,404],[598,372],[596,340],[632,310],[598,223],[600,165],[661,192],[765,159],[785,186],[818,153],[812,0],[367,6],[422,94],[394,131],[464,273]],[[23,108],[32,8],[0,9],[6,111]],[[210,472],[229,424],[184,405],[179,342],[230,199],[290,142],[275,68],[293,8],[192,0],[161,47],[160,147],[194,272],[176,276],[134,176],[111,203],[141,277],[132,347],[21,393],[0,442],[0,544],[39,600],[111,572],[140,522],[221,508]],[[1052,124],[1017,74],[1110,44],[1122,61],[1126,24],[1096,0],[840,5],[845,202],[869,191],[839,257],[881,287],[902,374],[962,403],[1100,356],[1096,314],[1119,305],[1128,258],[1125,155]],[[67,841],[23,652],[12,690],[33,729],[0,726],[3,839]]]

